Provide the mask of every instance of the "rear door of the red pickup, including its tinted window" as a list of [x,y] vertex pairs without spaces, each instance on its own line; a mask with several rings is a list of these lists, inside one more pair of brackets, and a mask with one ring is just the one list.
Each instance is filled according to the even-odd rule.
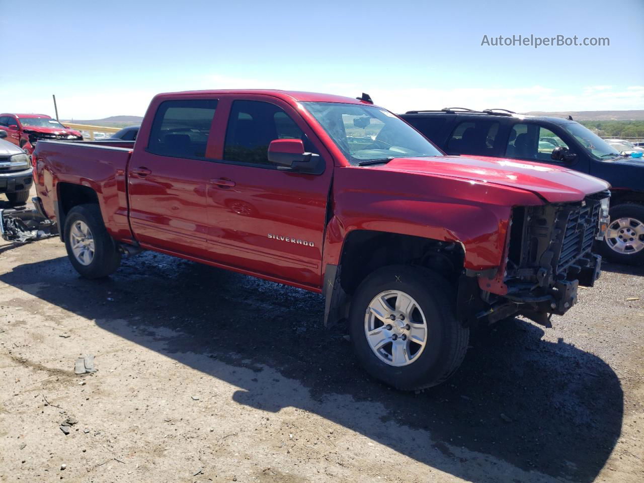
[[141,243],[211,258],[207,243],[206,155],[217,99],[173,99],[158,104],[141,149],[129,163],[132,230]]

